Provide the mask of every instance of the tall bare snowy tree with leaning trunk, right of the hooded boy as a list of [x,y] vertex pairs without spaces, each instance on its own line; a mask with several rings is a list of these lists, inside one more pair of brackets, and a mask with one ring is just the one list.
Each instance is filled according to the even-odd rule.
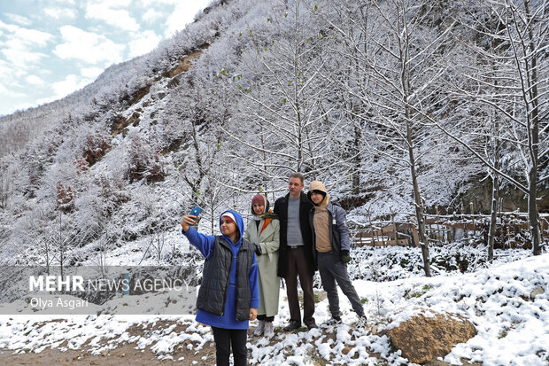
[[346,90],[365,105],[361,113],[350,113],[367,123],[364,132],[370,152],[409,172],[424,271],[430,276],[419,170],[421,159],[437,146],[423,116],[437,105],[445,73],[442,50],[454,23],[429,27],[439,9],[426,1],[337,2],[335,6],[346,23],[360,28],[352,34],[331,24],[343,37],[348,56],[356,58],[360,74],[367,75],[358,87]]

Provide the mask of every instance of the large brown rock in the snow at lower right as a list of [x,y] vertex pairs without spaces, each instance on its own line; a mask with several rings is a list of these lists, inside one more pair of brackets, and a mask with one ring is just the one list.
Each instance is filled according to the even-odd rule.
[[397,328],[386,331],[392,345],[410,362],[425,363],[444,357],[452,347],[476,335],[475,326],[457,316],[414,316]]

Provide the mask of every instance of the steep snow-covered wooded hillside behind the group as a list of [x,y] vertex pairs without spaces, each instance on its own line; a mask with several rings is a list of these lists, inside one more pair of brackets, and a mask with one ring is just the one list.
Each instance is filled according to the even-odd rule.
[[[522,64],[512,62],[512,35],[497,58],[505,52],[487,51],[497,35],[479,17],[507,21],[500,12],[536,12],[528,27],[542,47],[543,6],[363,5],[216,1],[150,54],[110,67],[62,101],[4,117],[2,258],[95,261],[98,249],[170,235],[196,204],[204,208],[205,230],[215,232],[221,211],[247,213],[257,191],[274,201],[294,170],[306,183],[326,183],[357,222],[417,205],[488,212],[493,169],[501,174],[500,208],[525,210],[525,194],[547,182],[546,119],[537,126],[537,157],[523,129],[531,113],[547,111],[547,80],[537,81],[530,111],[520,94]],[[405,20],[408,37],[400,38],[391,26]],[[378,51],[370,49],[375,44]],[[398,47],[411,52],[408,60],[397,57],[406,51]],[[543,47],[535,51],[545,70]],[[518,90],[507,105],[483,97],[503,100],[508,90],[491,82],[490,65]],[[408,75],[406,85],[401,75]],[[492,117],[500,115],[513,118],[496,131]],[[538,187],[527,184],[530,167]],[[537,209],[546,206],[534,201]],[[55,239],[62,237],[68,239]],[[167,249],[160,261],[177,257],[177,248]]]

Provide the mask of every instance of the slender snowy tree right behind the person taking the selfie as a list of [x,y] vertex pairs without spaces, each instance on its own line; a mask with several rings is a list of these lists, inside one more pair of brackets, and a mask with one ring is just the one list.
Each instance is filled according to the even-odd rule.
[[205,54],[187,74],[182,74],[175,90],[174,109],[168,114],[175,141],[180,147],[174,155],[178,181],[182,189],[174,192],[184,201],[186,210],[203,208],[200,219],[209,217],[212,233],[216,230],[217,211],[236,191],[227,182],[228,150],[222,128],[229,123],[233,108],[232,92],[225,81],[216,78],[211,58]]

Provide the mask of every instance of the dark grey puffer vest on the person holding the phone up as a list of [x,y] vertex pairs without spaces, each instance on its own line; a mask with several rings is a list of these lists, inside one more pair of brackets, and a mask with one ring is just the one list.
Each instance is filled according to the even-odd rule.
[[[236,321],[250,316],[251,292],[249,273],[253,263],[253,246],[245,239],[236,257]],[[213,253],[204,262],[202,284],[198,290],[197,308],[215,315],[224,315],[233,251],[221,236],[215,237]]]

